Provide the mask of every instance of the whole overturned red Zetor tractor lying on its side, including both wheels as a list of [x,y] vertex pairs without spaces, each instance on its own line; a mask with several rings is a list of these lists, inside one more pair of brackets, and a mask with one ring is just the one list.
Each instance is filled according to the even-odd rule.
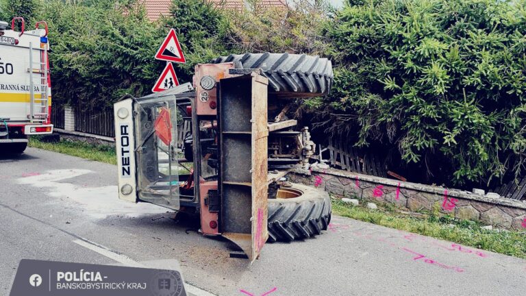
[[266,241],[321,234],[331,219],[322,190],[291,184],[315,144],[291,106],[327,95],[331,62],[247,53],[195,67],[193,84],[115,103],[119,197],[198,214],[201,232],[255,260]]

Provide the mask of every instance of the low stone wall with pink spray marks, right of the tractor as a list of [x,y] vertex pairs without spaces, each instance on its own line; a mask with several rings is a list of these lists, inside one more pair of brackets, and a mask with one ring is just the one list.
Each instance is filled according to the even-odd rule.
[[526,202],[492,198],[463,190],[349,173],[336,169],[312,169],[312,175],[291,173],[290,181],[318,186],[342,197],[395,204],[412,212],[450,214],[458,219],[481,221],[500,228],[526,230]]

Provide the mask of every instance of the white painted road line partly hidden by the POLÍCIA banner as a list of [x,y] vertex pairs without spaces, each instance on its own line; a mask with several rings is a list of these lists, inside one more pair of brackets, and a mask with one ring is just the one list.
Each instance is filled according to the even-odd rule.
[[[132,258],[129,258],[126,255],[119,254],[116,251],[112,251],[108,247],[104,247],[103,245],[94,243],[90,240],[87,240],[86,238],[82,238],[82,240],[81,239],[73,240],[73,243],[76,243],[77,245],[81,245],[82,247],[95,251],[105,257],[115,260],[116,262],[122,263],[127,267],[148,268],[145,264],[141,264],[140,262],[137,262],[136,260],[133,260]],[[185,282],[184,284],[185,284],[186,293],[188,293],[188,295],[190,296],[216,296],[212,293],[202,290],[201,288],[197,288],[197,286],[188,284],[188,282]]]

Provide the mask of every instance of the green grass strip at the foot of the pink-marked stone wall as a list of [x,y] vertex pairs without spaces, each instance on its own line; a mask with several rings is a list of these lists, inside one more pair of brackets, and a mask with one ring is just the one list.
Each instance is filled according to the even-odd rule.
[[450,216],[437,217],[433,214],[423,214],[422,217],[411,217],[396,212],[390,206],[386,208],[379,206],[378,210],[369,210],[362,206],[349,206],[339,199],[333,200],[333,213],[526,259],[526,232],[485,230],[477,222],[457,221]]

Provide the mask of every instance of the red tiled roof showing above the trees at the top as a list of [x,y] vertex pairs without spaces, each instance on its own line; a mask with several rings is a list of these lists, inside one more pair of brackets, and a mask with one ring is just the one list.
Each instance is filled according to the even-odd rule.
[[[208,0],[217,7],[242,10],[245,7],[245,0]],[[157,21],[161,15],[167,16],[170,13],[171,0],[142,0],[145,4],[146,14],[151,21]],[[286,0],[260,0],[260,7],[286,7]]]

